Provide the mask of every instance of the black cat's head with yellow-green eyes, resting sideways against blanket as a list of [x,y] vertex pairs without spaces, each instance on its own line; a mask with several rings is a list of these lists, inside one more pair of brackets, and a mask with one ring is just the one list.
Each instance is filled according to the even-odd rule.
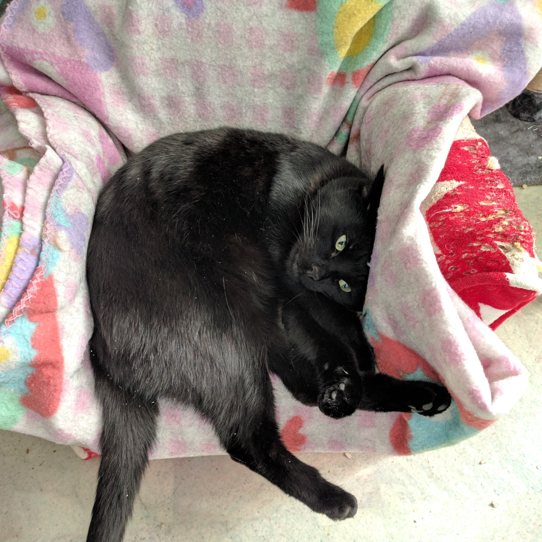
[[368,195],[363,181],[333,179],[307,200],[303,230],[286,262],[288,279],[296,286],[355,311],[365,300],[383,167]]

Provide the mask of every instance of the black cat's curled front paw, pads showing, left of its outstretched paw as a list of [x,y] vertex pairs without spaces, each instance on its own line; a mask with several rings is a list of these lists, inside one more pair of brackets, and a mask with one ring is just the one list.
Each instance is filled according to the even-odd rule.
[[362,383],[357,372],[336,367],[333,378],[322,386],[318,407],[326,416],[332,418],[350,416],[357,409],[361,389]]

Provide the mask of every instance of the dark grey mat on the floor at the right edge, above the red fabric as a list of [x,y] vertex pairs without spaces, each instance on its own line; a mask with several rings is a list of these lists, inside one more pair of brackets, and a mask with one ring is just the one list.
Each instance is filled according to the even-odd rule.
[[516,119],[506,106],[470,120],[514,186],[542,184],[542,121]]

